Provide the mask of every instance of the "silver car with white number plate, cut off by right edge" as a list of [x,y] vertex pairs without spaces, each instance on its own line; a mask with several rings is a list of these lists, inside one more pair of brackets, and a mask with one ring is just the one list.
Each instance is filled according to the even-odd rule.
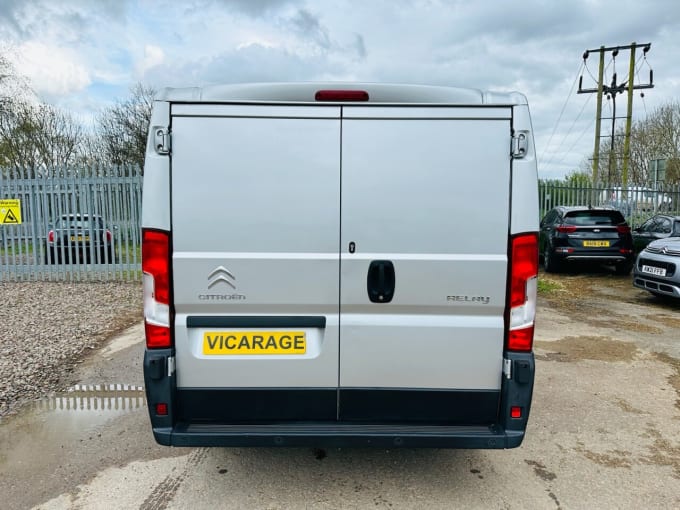
[[680,237],[652,241],[640,252],[633,285],[657,296],[680,298]]

